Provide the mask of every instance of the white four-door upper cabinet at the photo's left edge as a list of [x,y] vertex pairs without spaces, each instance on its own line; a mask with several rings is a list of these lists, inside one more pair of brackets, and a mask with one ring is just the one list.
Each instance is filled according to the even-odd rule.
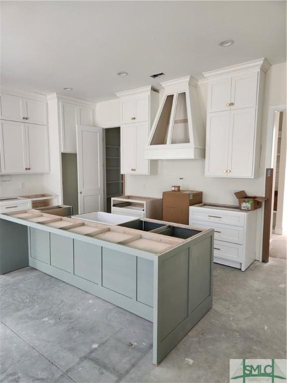
[[48,173],[45,97],[4,90],[0,111],[0,174]]

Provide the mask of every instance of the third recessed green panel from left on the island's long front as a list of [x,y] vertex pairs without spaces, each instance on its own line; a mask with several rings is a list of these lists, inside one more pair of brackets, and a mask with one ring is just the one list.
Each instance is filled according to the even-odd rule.
[[74,274],[100,285],[102,283],[102,247],[75,239]]

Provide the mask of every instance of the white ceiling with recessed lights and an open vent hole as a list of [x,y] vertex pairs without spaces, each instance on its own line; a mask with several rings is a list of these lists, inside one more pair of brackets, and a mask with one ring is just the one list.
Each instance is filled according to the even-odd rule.
[[286,1],[1,1],[1,84],[14,89],[104,101],[262,57],[286,61]]

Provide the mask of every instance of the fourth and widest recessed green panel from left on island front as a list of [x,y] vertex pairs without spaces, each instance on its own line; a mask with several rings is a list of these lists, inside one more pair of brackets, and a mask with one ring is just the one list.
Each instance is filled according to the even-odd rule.
[[103,286],[129,298],[136,298],[137,257],[103,247]]

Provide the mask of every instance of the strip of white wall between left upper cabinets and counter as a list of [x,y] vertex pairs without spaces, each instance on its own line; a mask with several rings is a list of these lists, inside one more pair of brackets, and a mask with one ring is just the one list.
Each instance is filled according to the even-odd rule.
[[[24,188],[20,188],[20,183]],[[9,197],[44,192],[44,177],[42,174],[16,174],[11,175],[10,181],[0,182],[0,196]]]

